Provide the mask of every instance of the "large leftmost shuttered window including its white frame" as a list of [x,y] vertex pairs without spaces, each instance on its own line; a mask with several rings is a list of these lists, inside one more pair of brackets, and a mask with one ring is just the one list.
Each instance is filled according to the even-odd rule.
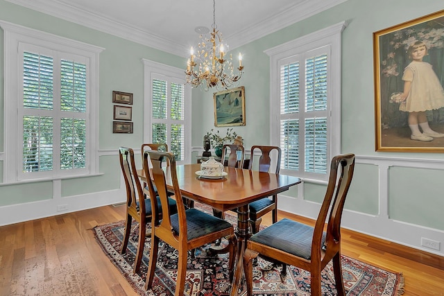
[[6,182],[94,174],[99,49],[1,21]]

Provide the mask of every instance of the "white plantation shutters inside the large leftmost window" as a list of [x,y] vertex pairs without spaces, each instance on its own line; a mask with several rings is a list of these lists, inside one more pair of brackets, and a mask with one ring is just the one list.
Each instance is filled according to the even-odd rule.
[[55,56],[23,52],[23,173],[86,168],[87,65]]

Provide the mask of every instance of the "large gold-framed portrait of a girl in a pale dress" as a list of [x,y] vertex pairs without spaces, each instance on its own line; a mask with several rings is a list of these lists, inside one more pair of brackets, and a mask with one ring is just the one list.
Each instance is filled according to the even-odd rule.
[[375,150],[444,152],[444,10],[373,33]]

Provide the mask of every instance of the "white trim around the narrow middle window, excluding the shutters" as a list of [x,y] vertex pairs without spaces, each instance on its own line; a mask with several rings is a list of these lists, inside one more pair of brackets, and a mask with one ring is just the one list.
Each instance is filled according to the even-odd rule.
[[[153,134],[151,132],[151,98],[153,98],[151,89],[151,80],[164,76],[172,78],[175,82],[180,82],[184,87],[184,114],[185,114],[185,149],[184,160],[178,161],[176,164],[191,163],[191,87],[185,84],[185,72],[183,69],[171,67],[166,64],[154,62],[152,60],[142,59],[144,63],[144,143],[151,143]],[[171,80],[171,79],[170,79]]]

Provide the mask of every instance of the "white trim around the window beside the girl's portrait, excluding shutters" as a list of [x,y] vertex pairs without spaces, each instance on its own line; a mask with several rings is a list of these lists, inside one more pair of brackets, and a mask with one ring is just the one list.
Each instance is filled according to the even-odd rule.
[[[337,155],[341,151],[341,33],[345,26],[345,21],[342,21],[339,24],[264,51],[264,53],[270,56],[270,134],[273,145],[280,146],[280,104],[276,102],[276,98],[280,98],[279,61],[330,44],[331,99],[329,104],[330,135],[328,139],[330,150],[327,152],[327,155]],[[285,173],[300,175],[300,172],[295,171],[286,171]],[[325,182],[329,173],[330,165],[327,163],[327,174],[320,175],[319,178],[312,181]],[[309,181],[310,179],[304,178],[304,180]]]

